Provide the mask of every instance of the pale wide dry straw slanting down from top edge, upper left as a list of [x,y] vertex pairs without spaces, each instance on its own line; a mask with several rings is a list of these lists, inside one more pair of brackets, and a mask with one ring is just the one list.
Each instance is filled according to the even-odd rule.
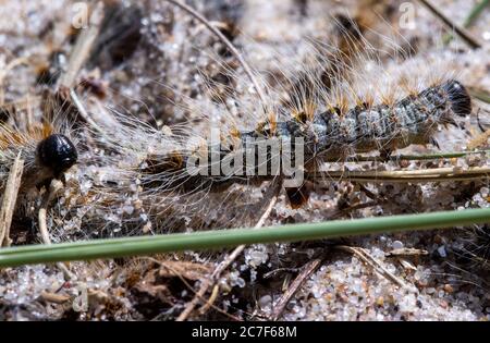
[[91,46],[99,34],[100,24],[103,19],[103,3],[98,1],[89,19],[89,26],[84,28],[76,39],[75,47],[70,54],[66,71],[59,78],[57,88],[72,88],[75,85],[82,65],[85,63],[90,52]]

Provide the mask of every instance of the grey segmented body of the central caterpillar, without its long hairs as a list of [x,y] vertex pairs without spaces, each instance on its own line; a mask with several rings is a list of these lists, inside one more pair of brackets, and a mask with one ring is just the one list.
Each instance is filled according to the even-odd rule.
[[[342,160],[355,152],[380,149],[383,152],[391,151],[412,144],[433,143],[432,134],[439,124],[455,124],[456,117],[465,117],[470,112],[471,101],[466,88],[460,82],[450,79],[395,101],[391,106],[363,102],[345,112],[339,107],[333,107],[324,112],[313,113],[309,119],[306,113],[302,112],[285,122],[269,122],[267,126],[260,125],[252,132],[232,133],[238,140],[238,148],[220,147],[219,151],[217,150],[218,159],[199,168],[205,170],[205,175],[210,175],[211,169],[217,167],[216,164],[224,163],[226,155],[232,152],[233,155],[243,155],[241,157],[241,160],[244,161],[243,168],[236,170],[240,175],[246,174],[245,167],[249,156],[252,157],[250,163],[255,166],[255,175],[257,175],[258,151],[254,149],[249,155],[250,147],[246,147],[248,138],[275,137],[280,142],[284,139],[296,142],[298,138],[303,138],[302,146],[306,161],[313,159]],[[205,150],[205,155],[209,154],[210,151]],[[152,172],[158,170],[160,173],[184,172],[192,156],[180,155],[179,151],[175,151],[171,156],[162,157],[158,162],[151,161],[151,169]],[[272,156],[269,152],[264,162],[271,161],[271,159]],[[266,175],[250,179],[268,180],[278,175],[272,174],[271,168],[269,168]],[[184,189],[207,187],[208,184],[210,189],[222,189],[223,184],[230,185],[241,181],[234,175],[228,175],[231,177],[218,176],[222,176],[224,180],[220,181],[216,175],[211,177],[195,175],[186,180],[176,180],[174,183]],[[242,181],[249,182],[243,177]]]

